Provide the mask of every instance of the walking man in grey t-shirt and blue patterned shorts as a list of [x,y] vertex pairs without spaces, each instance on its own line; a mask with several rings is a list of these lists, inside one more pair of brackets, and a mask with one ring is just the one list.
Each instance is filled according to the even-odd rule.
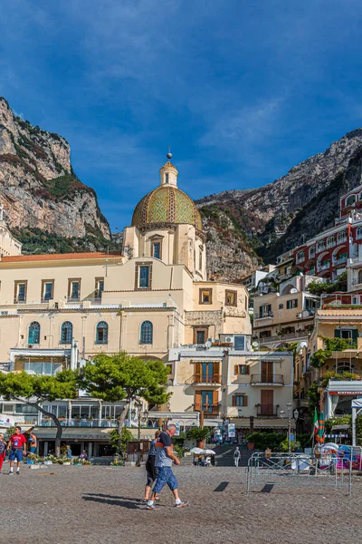
[[148,500],[148,510],[158,510],[155,505],[155,497],[163,490],[167,484],[169,489],[173,492],[175,497],[176,508],[182,508],[186,506],[188,502],[183,502],[178,496],[178,484],[176,476],[172,471],[172,463],[180,464],[178,457],[172,452],[171,437],[176,432],[176,425],[171,423],[167,425],[167,430],[161,432],[156,444],[156,468],[157,468],[157,481],[152,491],[151,499]]

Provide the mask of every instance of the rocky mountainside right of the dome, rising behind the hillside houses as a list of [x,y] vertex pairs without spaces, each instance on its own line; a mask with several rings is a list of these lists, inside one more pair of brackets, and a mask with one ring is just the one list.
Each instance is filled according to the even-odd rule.
[[[217,229],[208,241],[217,267],[210,272],[221,277],[231,273],[233,279],[245,277],[257,266],[258,258],[272,263],[303,238],[332,226],[339,197],[361,183],[361,171],[362,129],[358,129],[262,188],[235,189],[198,200],[206,231],[214,227],[217,214],[226,214],[233,223],[232,228]],[[233,241],[229,236],[234,228],[242,233],[243,248],[239,239]],[[228,252],[240,260],[235,258],[224,266],[220,259],[227,237]]]

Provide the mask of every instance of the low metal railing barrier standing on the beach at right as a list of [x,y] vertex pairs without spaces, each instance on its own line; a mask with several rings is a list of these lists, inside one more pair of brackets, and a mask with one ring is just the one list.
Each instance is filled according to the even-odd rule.
[[327,453],[253,453],[248,461],[247,493],[252,485],[347,487],[352,492],[352,461]]

